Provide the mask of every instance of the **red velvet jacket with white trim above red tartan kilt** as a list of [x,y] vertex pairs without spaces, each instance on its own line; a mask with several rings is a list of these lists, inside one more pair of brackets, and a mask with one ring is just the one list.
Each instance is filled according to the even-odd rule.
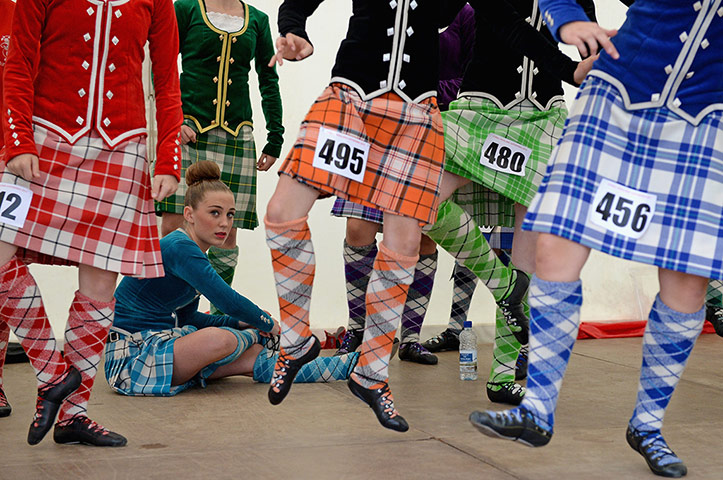
[[18,3],[5,67],[5,159],[37,155],[33,123],[69,143],[91,129],[110,147],[146,135],[142,81],[146,41],[156,92],[155,174],[179,178],[183,113],[172,0]]

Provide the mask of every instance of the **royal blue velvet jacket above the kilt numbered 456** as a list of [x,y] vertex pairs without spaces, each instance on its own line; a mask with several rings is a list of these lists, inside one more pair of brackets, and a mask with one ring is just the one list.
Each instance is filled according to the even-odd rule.
[[[587,20],[574,0],[540,0],[550,31]],[[615,85],[629,110],[664,107],[693,125],[723,110],[723,0],[638,0],[590,75]]]

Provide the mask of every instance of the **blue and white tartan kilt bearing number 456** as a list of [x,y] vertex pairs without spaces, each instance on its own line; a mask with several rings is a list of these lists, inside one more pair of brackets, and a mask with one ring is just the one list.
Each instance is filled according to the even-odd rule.
[[[589,221],[603,179],[655,194],[641,238]],[[588,77],[522,228],[628,260],[723,278],[723,112],[692,125],[665,108],[629,111],[615,87]]]

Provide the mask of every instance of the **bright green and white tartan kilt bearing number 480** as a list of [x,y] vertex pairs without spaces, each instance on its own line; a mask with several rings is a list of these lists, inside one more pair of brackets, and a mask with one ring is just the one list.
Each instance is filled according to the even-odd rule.
[[[567,108],[563,100],[553,102],[549,110],[539,110],[529,101],[503,110],[483,97],[460,97],[450,104],[448,111],[442,112],[446,150],[444,169],[469,178],[514,202],[529,206],[542,182],[552,149],[562,135],[566,116]],[[524,176],[498,172],[480,162],[482,145],[490,134],[532,150]],[[475,192],[474,187],[469,188],[473,189],[472,193],[478,200],[496,204],[489,207],[493,215],[504,215],[509,208],[489,192]],[[468,196],[463,201],[473,199]],[[497,223],[490,219],[481,223],[509,226],[505,221]]]

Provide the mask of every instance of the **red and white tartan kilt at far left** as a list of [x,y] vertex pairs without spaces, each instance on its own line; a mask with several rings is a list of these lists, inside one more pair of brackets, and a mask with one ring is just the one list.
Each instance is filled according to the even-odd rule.
[[18,255],[27,262],[163,276],[145,138],[111,149],[91,132],[70,145],[36,125],[35,144],[39,179],[0,175],[33,191],[23,227],[0,224],[0,240],[26,249]]

